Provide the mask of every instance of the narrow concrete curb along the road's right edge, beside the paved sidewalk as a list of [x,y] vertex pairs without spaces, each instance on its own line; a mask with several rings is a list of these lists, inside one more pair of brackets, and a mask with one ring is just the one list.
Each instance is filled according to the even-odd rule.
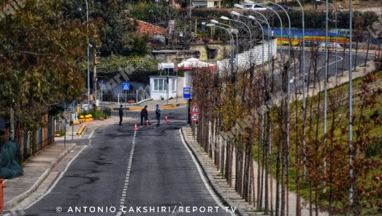
[[[213,189],[213,192],[215,193],[215,195],[218,196],[218,198],[222,201],[222,203],[224,205],[227,205],[230,208],[237,207],[237,206],[233,205],[233,203],[230,202],[230,200],[226,200],[223,197],[223,191],[220,190],[220,187],[216,183],[213,183],[211,181],[211,179],[213,179],[213,177],[205,169],[206,164],[204,164],[203,160],[199,157],[199,154],[196,152],[196,149],[194,149],[193,146],[191,144],[189,144],[189,142],[187,142],[186,135],[184,135],[184,127],[181,127],[181,135],[184,138],[184,142],[186,142],[189,149],[191,149],[191,152],[192,152],[193,156],[196,158],[196,161],[198,161],[199,166],[201,166],[201,169],[203,170],[203,174],[207,178],[206,180],[208,181],[208,184]],[[239,215],[239,216],[247,216],[247,213],[243,212],[240,208],[237,208],[237,211],[235,212],[235,214]]]

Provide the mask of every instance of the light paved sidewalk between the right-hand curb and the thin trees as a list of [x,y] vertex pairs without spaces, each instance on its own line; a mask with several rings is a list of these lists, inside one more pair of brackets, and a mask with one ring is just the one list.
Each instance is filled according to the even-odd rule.
[[[208,181],[210,182],[210,185],[213,188],[213,191],[218,194],[218,197],[220,200],[222,200],[223,203],[227,203],[227,205],[230,205],[232,208],[240,208],[240,210],[237,212],[237,215],[265,215],[264,211],[258,211],[256,208],[254,208],[254,205],[249,205],[249,203],[245,202],[244,199],[240,197],[240,195],[235,191],[235,176],[232,176],[232,187],[230,187],[227,184],[227,181],[223,176],[220,174],[220,171],[218,171],[217,167],[214,164],[213,159],[211,159],[206,152],[204,152],[203,148],[198,144],[198,142],[194,141],[191,127],[183,127],[181,129],[182,134],[184,135],[184,139],[186,141],[186,144],[190,147],[191,151],[193,152],[194,156],[197,158],[198,163],[201,164],[201,168],[203,169],[203,172],[208,178]],[[257,167],[259,165],[256,161],[254,161],[254,178],[257,179]],[[233,172],[235,173],[235,166],[233,166]],[[265,179],[264,179],[265,180]],[[272,178],[272,194],[273,194],[273,200],[272,204],[274,205],[273,210],[276,207],[276,179]],[[269,196],[270,197],[270,196]],[[289,216],[296,215],[296,194],[295,193],[288,193],[289,198]],[[264,200],[264,195],[263,195]],[[303,207],[304,203],[306,203],[305,200],[301,198],[301,215],[309,215],[308,208]],[[264,206],[264,203],[263,203]],[[269,212],[269,215],[271,213]],[[327,215],[325,212],[319,212],[320,216]]]

